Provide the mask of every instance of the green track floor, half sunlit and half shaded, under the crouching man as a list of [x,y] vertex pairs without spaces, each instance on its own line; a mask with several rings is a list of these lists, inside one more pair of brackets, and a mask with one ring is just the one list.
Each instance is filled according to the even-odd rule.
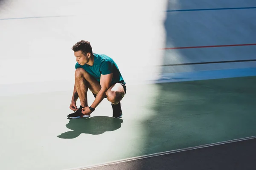
[[72,89],[0,97],[0,169],[64,170],[256,136],[255,84],[241,77],[128,85],[122,119],[111,118],[107,100],[90,119],[67,119]]

